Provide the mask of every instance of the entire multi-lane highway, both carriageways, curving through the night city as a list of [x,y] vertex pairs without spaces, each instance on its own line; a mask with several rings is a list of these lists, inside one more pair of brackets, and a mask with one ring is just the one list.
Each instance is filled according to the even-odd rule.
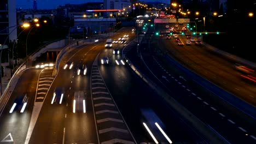
[[[165,30],[163,25],[155,28],[157,31]],[[163,133],[175,143],[211,142],[162,97],[174,98],[212,128],[213,133],[222,135],[231,143],[255,142],[255,128],[252,127],[255,119],[198,85],[184,71],[166,61],[160,51],[169,52],[177,61],[203,77],[212,77],[213,82],[223,80],[228,89],[248,90],[246,95],[253,96],[253,86],[243,82],[248,87],[238,87],[241,86],[237,84],[240,79],[236,77],[230,61],[213,55],[203,46],[178,46],[174,38],[155,35],[144,35],[140,45],[141,61],[136,50],[137,35],[131,29],[125,27],[109,36],[118,39],[129,34],[125,44],[113,44],[109,49],[104,47],[106,39],[76,46],[63,56],[56,75],[53,75],[55,70],[52,68],[27,69],[1,113],[0,128],[4,130],[0,133],[0,144],[170,143]],[[148,31],[153,31],[153,28]],[[184,36],[180,37],[185,40]],[[158,95],[143,82],[121,53],[113,53],[116,48],[123,53],[128,52],[127,56],[133,59],[133,63],[168,95]],[[102,64],[103,57],[108,57],[108,64]],[[66,63],[72,62],[72,69],[64,69]],[[81,64],[87,67],[86,75],[78,75]],[[228,73],[231,70],[235,72]],[[64,93],[63,97],[55,100],[56,87],[63,88]],[[15,99],[23,93],[28,98],[25,112],[10,113]],[[246,95],[245,99],[254,101],[253,97]]]

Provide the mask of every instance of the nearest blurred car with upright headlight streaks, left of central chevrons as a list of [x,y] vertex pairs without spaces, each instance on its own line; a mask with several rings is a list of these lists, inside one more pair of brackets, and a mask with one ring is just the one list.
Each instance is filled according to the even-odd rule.
[[75,91],[73,97],[73,113],[86,112],[84,91]]

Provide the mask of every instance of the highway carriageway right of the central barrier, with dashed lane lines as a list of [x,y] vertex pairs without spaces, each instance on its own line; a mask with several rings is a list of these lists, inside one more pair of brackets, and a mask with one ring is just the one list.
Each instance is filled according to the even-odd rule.
[[[160,25],[159,28],[161,30],[159,31],[164,31],[164,26],[165,25]],[[151,29],[151,31],[153,31],[153,29]],[[217,95],[211,93],[205,87],[200,86],[191,79],[193,77],[186,76],[184,71],[177,69],[170,61],[166,61],[161,51],[166,51],[174,55],[182,64],[187,63],[190,67],[195,67],[193,71],[201,71],[200,73],[206,72],[208,74],[207,76],[210,77],[214,72],[216,75],[223,74],[222,71],[219,71],[219,68],[227,68],[228,66],[224,65],[227,63],[229,63],[228,68],[230,68],[229,75],[232,74],[231,71],[237,73],[234,68],[231,70],[232,64],[229,61],[212,54],[210,51],[206,51],[203,49],[203,46],[196,46],[194,44],[178,46],[173,37],[171,39],[166,39],[165,37],[155,38],[155,35],[146,35],[146,37],[144,38],[146,41],[141,45],[141,51],[143,53],[144,62],[154,74],[154,76],[149,74],[150,79],[154,80],[156,79],[155,77],[157,77],[158,80],[155,80],[156,83],[162,85],[173,98],[187,107],[188,110],[199,117],[203,122],[210,125],[220,135],[224,136],[226,140],[231,143],[255,142],[255,129],[252,127],[252,125],[255,125],[255,119],[218,98]],[[150,37],[153,37],[155,40],[151,40]],[[183,41],[185,40],[185,38],[182,38],[185,36],[179,37],[181,37]],[[149,39],[150,41],[148,41]],[[161,46],[158,46],[159,44],[161,44]],[[196,54],[190,52],[196,50],[198,50]],[[205,53],[207,53],[207,55],[205,55]],[[218,70],[214,69],[214,62],[212,62],[212,60],[210,61],[209,58],[218,59],[218,64],[214,66],[217,67]],[[205,70],[206,68],[211,68],[211,74],[209,74],[209,71]],[[229,78],[229,76],[226,77]],[[232,76],[230,77],[231,80]],[[225,79],[222,77],[218,80]],[[240,81],[238,78],[236,80]],[[247,83],[247,85],[249,84]],[[252,87],[253,86],[248,87],[251,88],[250,92],[253,91]]]

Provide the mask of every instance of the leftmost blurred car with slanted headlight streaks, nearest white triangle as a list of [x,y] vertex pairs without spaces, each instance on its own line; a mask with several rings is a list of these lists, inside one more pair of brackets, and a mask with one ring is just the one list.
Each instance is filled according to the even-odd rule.
[[23,93],[22,95],[16,97],[14,100],[13,106],[11,106],[11,109],[9,113],[13,113],[14,111],[20,111],[20,113],[23,113],[26,109],[28,103],[28,97],[26,93]]

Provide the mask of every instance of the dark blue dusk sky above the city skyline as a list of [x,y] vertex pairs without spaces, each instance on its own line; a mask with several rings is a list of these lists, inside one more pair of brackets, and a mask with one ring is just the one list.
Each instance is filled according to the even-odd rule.
[[[168,0],[146,0],[146,2],[154,1],[170,3]],[[37,9],[55,9],[58,5],[65,5],[67,3],[81,4],[88,2],[103,2],[103,0],[37,0]],[[33,0],[16,0],[16,7],[22,9],[33,8]]]

